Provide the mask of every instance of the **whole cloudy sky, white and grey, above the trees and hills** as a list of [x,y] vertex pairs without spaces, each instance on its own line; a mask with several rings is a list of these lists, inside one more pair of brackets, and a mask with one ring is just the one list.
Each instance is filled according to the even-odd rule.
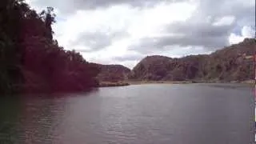
[[54,38],[90,62],[133,68],[146,55],[209,54],[254,38],[254,0],[26,0],[57,14]]

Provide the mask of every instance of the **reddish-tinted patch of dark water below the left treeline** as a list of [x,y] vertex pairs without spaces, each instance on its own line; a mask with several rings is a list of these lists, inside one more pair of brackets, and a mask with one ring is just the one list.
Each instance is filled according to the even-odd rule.
[[54,130],[62,123],[65,98],[25,98],[22,100],[20,139],[25,143],[51,143]]

